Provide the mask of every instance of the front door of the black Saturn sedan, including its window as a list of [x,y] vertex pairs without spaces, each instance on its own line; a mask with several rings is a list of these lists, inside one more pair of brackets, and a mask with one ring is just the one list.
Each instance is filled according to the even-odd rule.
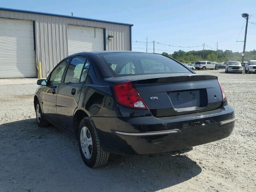
[[57,90],[68,62],[69,60],[62,61],[52,70],[50,76],[47,78],[46,86],[42,89],[42,108],[44,115],[56,124],[58,124],[56,108]]

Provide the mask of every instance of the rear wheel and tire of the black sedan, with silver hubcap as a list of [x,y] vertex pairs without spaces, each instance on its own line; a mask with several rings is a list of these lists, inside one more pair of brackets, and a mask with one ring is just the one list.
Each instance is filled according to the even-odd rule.
[[77,134],[79,150],[84,163],[90,168],[106,165],[109,153],[103,151],[96,127],[89,117],[81,120]]

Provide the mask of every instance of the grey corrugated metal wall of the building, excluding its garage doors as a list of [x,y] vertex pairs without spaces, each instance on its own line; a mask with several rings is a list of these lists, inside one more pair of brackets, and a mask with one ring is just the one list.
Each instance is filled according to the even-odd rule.
[[[44,78],[60,60],[68,56],[68,24],[105,28],[106,50],[130,50],[128,25],[10,10],[0,10],[0,17],[35,21],[36,63],[42,63]],[[113,40],[108,40],[108,35],[114,36]]]

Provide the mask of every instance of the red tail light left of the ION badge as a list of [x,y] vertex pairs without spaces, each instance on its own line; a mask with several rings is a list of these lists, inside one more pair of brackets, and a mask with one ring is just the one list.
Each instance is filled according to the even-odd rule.
[[148,109],[140,94],[133,87],[132,82],[126,81],[116,84],[113,86],[113,90],[116,102],[119,104],[134,109]]

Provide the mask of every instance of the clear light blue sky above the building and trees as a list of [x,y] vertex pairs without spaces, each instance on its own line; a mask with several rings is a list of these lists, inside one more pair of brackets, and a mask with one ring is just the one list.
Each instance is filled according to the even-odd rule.
[[148,52],[154,40],[157,53],[202,50],[203,44],[216,50],[217,41],[218,49],[242,52],[236,40],[244,40],[241,14],[248,13],[246,51],[256,49],[256,0],[0,0],[0,6],[134,24],[132,50],[146,52],[148,38]]

